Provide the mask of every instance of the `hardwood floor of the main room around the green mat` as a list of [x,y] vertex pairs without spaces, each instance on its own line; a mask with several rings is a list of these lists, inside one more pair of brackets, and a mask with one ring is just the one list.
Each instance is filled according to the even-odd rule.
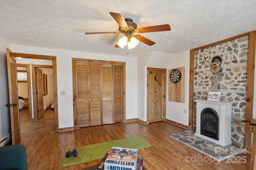
[[[144,158],[144,167],[147,170],[249,169],[249,153],[238,154],[229,161],[217,162],[169,137],[170,133],[182,130],[184,129],[166,122],[150,123],[148,125],[142,125],[138,122],[116,123],[64,132],[23,136],[20,144],[26,148],[28,170],[80,170],[98,164],[100,160],[62,168],[66,148],[76,148],[136,135],[140,135],[152,144],[151,147],[138,150],[138,156]],[[242,156],[244,156],[243,159],[240,159]],[[200,158],[203,161],[200,162]]]

